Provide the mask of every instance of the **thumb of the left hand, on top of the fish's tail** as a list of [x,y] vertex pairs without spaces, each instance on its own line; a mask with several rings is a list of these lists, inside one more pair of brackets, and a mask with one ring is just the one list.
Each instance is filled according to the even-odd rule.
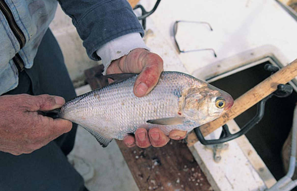
[[30,102],[32,102],[30,111],[49,111],[62,107],[65,103],[65,99],[59,96],[42,94],[32,96]]

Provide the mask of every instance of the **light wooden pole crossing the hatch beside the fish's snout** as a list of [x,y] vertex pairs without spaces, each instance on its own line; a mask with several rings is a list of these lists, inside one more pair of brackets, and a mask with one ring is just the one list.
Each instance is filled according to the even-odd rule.
[[[261,99],[267,97],[269,94],[277,90],[277,85],[286,84],[297,76],[297,59],[285,66],[278,72],[266,78],[257,86],[250,89],[245,94],[241,95],[234,101],[234,105],[230,110],[224,113],[221,117],[214,121],[200,126],[203,136],[206,136],[218,129],[231,119],[236,118],[238,115],[255,105]],[[188,135],[188,146],[194,145],[198,138],[194,131]]]

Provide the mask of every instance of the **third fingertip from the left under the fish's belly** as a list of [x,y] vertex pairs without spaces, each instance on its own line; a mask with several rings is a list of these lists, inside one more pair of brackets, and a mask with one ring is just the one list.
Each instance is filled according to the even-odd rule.
[[159,128],[152,128],[149,130],[149,140],[153,147],[163,147],[170,140]]

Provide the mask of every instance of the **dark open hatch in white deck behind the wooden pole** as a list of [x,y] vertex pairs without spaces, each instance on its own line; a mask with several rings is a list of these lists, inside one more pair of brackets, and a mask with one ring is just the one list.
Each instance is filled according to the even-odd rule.
[[[270,62],[263,62],[210,84],[228,92],[233,99],[236,99],[270,76],[270,72],[264,70],[264,65],[267,63]],[[282,164],[281,151],[292,126],[296,102],[297,93],[295,91],[285,98],[273,96],[266,102],[263,119],[246,134],[249,142],[277,180],[286,174]],[[238,126],[243,127],[256,114],[256,110],[257,106],[255,105],[236,117],[235,121]]]

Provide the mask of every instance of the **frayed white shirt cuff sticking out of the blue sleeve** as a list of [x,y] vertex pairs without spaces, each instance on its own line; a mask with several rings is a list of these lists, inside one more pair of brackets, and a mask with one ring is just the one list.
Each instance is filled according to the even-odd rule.
[[106,74],[106,69],[111,61],[129,54],[130,51],[136,48],[149,50],[139,33],[129,33],[120,36],[101,46],[96,53],[104,65],[103,75]]

